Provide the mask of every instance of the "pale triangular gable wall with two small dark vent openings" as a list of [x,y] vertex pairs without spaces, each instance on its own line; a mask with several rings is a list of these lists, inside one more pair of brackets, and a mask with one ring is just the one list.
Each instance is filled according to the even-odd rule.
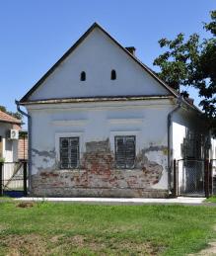
[[[116,70],[116,80],[110,71]],[[80,81],[85,71],[86,81]],[[170,92],[95,29],[43,82],[30,100],[117,95],[168,95]]]

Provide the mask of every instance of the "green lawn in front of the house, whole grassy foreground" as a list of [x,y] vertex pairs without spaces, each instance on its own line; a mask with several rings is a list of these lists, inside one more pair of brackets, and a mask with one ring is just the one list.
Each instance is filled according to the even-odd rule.
[[216,238],[214,207],[18,204],[0,204],[0,255],[186,255]]

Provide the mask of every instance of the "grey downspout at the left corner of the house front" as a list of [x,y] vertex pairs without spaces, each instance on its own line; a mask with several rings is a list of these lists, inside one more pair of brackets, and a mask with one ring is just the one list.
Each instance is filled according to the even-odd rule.
[[20,107],[20,102],[15,100],[15,103],[17,105],[17,110],[19,113],[21,113],[23,116],[27,117],[28,119],[28,169],[29,169],[29,191],[31,191],[32,184],[31,184],[31,177],[32,177],[32,119],[31,116],[22,111]]

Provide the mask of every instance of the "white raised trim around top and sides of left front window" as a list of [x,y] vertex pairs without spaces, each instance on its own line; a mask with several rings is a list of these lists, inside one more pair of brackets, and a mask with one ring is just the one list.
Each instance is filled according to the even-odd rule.
[[55,153],[56,153],[56,160],[60,161],[60,144],[59,138],[60,137],[79,137],[80,139],[80,159],[82,156],[82,152],[84,152],[84,139],[83,139],[83,131],[75,131],[75,132],[56,132],[55,133]]

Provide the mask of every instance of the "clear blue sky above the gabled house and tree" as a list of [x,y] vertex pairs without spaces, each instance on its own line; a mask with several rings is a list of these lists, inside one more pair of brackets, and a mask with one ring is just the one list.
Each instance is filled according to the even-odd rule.
[[[1,0],[0,105],[20,99],[61,55],[98,22],[151,68],[161,38],[202,30],[215,0]],[[195,94],[192,92],[192,96]],[[196,103],[198,99],[196,98]]]

